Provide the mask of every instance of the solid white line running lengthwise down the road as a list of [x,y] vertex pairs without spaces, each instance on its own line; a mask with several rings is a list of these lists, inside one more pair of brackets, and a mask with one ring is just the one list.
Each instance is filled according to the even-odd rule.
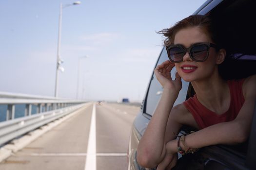
[[84,170],[97,170],[97,164],[96,164],[96,116],[95,115],[96,115],[96,108],[95,108],[95,103],[94,103]]

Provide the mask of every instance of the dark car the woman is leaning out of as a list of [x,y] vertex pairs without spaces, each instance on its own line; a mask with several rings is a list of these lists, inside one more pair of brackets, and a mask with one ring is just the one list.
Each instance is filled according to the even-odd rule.
[[[192,3],[192,2],[191,2]],[[256,74],[256,1],[255,0],[207,0],[194,14],[209,15],[216,21],[217,29],[226,36],[228,51],[237,60],[224,63],[219,70],[223,78],[243,78]],[[165,48],[162,49],[155,67],[168,60]],[[176,69],[171,71],[175,77]],[[151,170],[137,162],[138,142],[154,114],[162,94],[154,72],[150,78],[145,97],[136,116],[128,147],[128,170]],[[192,85],[182,80],[182,89],[174,105],[194,94]],[[189,132],[191,127],[183,126],[181,132]],[[154,139],[152,139],[154,140]],[[251,134],[247,142],[239,145],[215,145],[201,148],[197,153],[182,156],[179,154],[173,170],[256,170],[256,107],[252,120]],[[152,169],[155,170],[155,169]]]

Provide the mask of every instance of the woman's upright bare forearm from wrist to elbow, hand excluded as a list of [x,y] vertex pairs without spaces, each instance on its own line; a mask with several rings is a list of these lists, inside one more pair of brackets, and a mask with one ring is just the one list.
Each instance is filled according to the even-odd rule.
[[[175,100],[170,98],[170,92],[163,90],[162,97],[159,101],[158,107],[154,113],[154,116],[150,120],[146,131],[138,144],[137,160],[138,164],[146,168],[155,168],[161,162],[165,155],[165,131],[167,126],[167,120],[170,110]],[[172,113],[170,113],[172,115]],[[170,129],[175,134],[170,134],[170,140],[174,139],[178,133],[181,124],[171,119],[168,122]]]

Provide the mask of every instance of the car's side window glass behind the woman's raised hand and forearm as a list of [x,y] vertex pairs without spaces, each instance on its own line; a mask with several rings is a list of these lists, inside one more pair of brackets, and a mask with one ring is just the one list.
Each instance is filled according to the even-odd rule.
[[[157,65],[161,64],[162,62],[164,62],[166,60],[168,60],[168,56],[167,56],[167,52],[166,52],[165,48],[163,48]],[[171,76],[173,79],[175,78],[175,73],[176,73],[176,68],[174,67],[171,71]],[[189,84],[188,82],[185,82],[182,79],[182,89],[180,90],[178,98],[177,98],[176,102],[174,103],[174,105],[177,105],[177,104],[185,101],[186,95],[187,95],[188,84]],[[148,94],[147,94],[147,99],[146,99],[146,113],[147,114],[153,115],[153,113],[157,107],[158,101],[162,95],[162,91],[163,91],[163,87],[158,82],[155,74],[153,74],[153,76],[151,78]]]

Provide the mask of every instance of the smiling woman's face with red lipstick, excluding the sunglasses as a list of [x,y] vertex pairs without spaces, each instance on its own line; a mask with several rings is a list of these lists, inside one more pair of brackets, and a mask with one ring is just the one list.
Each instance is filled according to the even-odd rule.
[[[174,44],[181,44],[188,48],[195,43],[213,43],[211,39],[199,27],[185,28],[177,32]],[[175,63],[177,72],[186,82],[193,82],[210,78],[217,71],[216,64],[217,52],[214,48],[210,48],[209,56],[204,62],[193,61],[189,53],[183,57],[183,61]]]

